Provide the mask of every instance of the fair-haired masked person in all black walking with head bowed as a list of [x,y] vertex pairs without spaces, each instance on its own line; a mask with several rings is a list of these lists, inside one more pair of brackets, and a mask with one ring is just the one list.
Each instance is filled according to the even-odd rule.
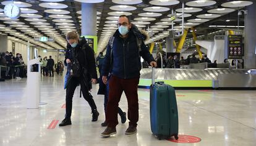
[[[91,83],[96,83],[97,73],[95,65],[95,57],[93,49],[88,46],[85,38],[79,39],[79,36],[75,32],[67,33],[67,51],[65,56],[65,65],[67,65],[68,81],[66,81],[66,117],[59,124],[59,126],[66,126],[71,124],[70,116],[72,113],[72,99],[75,92],[75,88],[78,84],[81,86],[83,98],[87,100],[90,107],[92,108],[92,121],[97,121],[100,115],[97,111],[97,107],[90,94]],[[75,63],[75,64],[74,64]],[[74,75],[75,68],[79,68],[77,74]]]

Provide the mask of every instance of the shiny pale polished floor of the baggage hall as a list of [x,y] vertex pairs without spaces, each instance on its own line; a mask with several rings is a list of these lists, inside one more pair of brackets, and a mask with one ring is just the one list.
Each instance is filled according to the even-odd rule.
[[[256,91],[176,91],[179,109],[179,134],[202,139],[195,144],[177,144],[158,140],[150,131],[149,91],[139,89],[140,119],[137,134],[126,136],[128,123],[117,126],[115,136],[103,139],[100,124],[104,120],[103,95],[93,96],[100,112],[99,120],[91,122],[88,103],[75,91],[72,126],[48,129],[53,120],[61,121],[65,109],[62,77],[41,78],[39,109],[26,109],[26,79],[0,82],[0,145],[256,145]],[[123,95],[120,107],[127,111]]]

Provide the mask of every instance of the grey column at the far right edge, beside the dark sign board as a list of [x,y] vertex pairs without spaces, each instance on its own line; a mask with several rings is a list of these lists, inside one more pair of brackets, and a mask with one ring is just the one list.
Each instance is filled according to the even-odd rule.
[[248,14],[245,15],[245,49],[244,49],[244,68],[256,68],[256,3],[246,7]]

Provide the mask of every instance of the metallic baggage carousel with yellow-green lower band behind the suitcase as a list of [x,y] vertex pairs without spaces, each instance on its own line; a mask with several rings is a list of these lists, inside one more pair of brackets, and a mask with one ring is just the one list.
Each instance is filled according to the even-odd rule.
[[[156,68],[155,81],[176,89],[256,89],[256,70]],[[140,71],[140,88],[151,85],[151,68]]]

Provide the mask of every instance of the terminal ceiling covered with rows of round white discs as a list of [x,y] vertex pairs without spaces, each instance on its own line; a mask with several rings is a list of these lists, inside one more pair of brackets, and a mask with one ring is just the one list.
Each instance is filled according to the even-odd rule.
[[[103,49],[117,29],[119,15],[129,15],[132,23],[140,29],[153,31],[147,43],[169,36],[170,14],[177,13],[174,30],[181,30],[182,1],[179,0],[23,0],[14,1],[22,14],[13,20],[4,14],[4,6],[12,1],[0,1],[0,34],[8,34],[15,41],[30,41],[45,49],[64,49],[65,34],[81,29],[81,3],[95,2],[97,7],[98,50]],[[237,29],[237,10],[249,6],[253,1],[235,0],[184,0],[185,28],[194,26],[197,35],[218,30],[217,26]],[[239,24],[244,25],[240,16]],[[35,42],[36,36],[54,37],[54,42]]]

